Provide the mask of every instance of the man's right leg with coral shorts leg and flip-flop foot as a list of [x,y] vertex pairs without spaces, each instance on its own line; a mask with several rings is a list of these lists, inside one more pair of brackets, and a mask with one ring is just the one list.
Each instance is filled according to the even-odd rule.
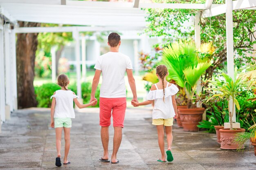
[[113,102],[113,126],[114,126],[114,139],[113,139],[113,152],[111,162],[117,162],[117,152],[122,141],[122,128],[124,128],[124,116],[126,111],[126,98],[117,98]]

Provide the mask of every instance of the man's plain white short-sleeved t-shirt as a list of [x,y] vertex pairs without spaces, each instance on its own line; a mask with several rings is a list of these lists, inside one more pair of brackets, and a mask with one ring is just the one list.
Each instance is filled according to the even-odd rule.
[[132,63],[127,55],[108,52],[99,56],[94,68],[102,72],[100,97],[126,97],[124,74],[126,69],[132,69]]

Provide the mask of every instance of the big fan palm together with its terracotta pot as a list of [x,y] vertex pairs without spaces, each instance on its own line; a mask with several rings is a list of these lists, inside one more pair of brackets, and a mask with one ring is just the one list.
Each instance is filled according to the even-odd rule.
[[193,100],[198,80],[211,66],[209,58],[200,59],[194,42],[173,42],[163,50],[162,62],[168,66],[168,78],[184,88],[187,108],[178,108],[184,131],[198,131],[198,122],[202,120],[204,108],[196,108]]

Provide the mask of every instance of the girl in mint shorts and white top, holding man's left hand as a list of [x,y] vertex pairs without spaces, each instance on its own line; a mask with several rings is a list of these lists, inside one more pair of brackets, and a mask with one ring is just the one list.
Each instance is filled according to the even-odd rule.
[[67,75],[61,74],[58,76],[58,85],[61,86],[61,90],[53,93],[52,106],[51,106],[51,124],[52,128],[55,128],[56,133],[56,166],[61,166],[61,134],[64,129],[65,135],[65,155],[63,164],[70,164],[67,160],[67,155],[70,150],[70,128],[72,126],[72,118],[75,118],[75,112],[73,107],[73,101],[78,108],[86,108],[96,104],[97,100],[92,101],[89,104],[80,104],[77,100],[77,95],[68,90],[67,86],[70,83]]

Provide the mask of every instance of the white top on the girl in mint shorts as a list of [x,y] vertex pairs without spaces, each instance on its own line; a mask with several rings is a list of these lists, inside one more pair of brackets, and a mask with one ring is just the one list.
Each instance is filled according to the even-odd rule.
[[52,97],[56,99],[54,118],[75,118],[73,99],[77,98],[77,95],[72,91],[58,90]]

